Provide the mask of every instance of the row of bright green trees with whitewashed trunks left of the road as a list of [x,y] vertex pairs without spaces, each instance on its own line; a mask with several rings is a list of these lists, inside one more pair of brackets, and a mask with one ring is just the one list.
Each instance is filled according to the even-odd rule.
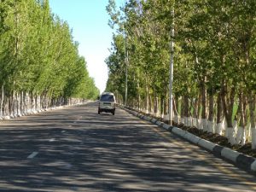
[[48,0],[0,0],[0,44],[0,118],[98,96],[79,44]]

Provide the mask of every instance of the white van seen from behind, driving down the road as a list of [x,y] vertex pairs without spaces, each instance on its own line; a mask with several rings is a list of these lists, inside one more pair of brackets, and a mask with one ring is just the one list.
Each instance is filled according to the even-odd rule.
[[115,97],[113,93],[103,92],[99,99],[98,114],[102,112],[112,113],[115,111]]

